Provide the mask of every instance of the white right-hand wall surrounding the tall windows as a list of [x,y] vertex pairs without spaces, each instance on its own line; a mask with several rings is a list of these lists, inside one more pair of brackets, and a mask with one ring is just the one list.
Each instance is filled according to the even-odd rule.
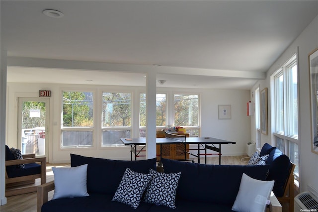
[[[288,61],[297,51],[299,51],[299,111],[300,111],[300,129],[299,129],[299,168],[300,168],[300,188],[301,191],[307,191],[307,186],[312,185],[318,188],[318,155],[311,152],[311,112],[310,112],[310,86],[309,86],[309,64],[308,55],[318,47],[318,16],[307,26],[300,36],[286,49],[286,51],[271,66],[266,75],[265,81],[260,81],[252,89],[260,85],[260,90],[267,87],[270,95],[270,76]],[[268,96],[270,97],[270,96]],[[271,124],[270,98],[268,98],[268,129],[269,135],[262,135],[261,145],[265,142],[271,142]],[[254,131],[254,120],[251,121],[251,131]],[[255,134],[251,133],[251,139],[255,140]]]

